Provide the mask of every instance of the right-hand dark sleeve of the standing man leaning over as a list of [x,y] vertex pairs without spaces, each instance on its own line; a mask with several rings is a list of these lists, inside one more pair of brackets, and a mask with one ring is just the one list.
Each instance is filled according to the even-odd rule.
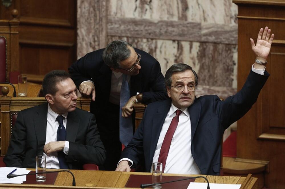
[[168,99],[164,84],[164,76],[161,73],[158,61],[156,61],[151,68],[149,82],[150,91],[143,92],[143,104]]

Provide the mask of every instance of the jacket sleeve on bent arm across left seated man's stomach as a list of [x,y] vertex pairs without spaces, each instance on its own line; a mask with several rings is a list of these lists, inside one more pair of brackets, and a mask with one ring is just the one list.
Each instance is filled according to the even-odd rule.
[[102,165],[106,159],[106,151],[100,140],[95,116],[93,114],[90,114],[87,127],[87,131],[81,136],[85,138],[85,144],[69,142],[67,162],[76,160],[82,163]]

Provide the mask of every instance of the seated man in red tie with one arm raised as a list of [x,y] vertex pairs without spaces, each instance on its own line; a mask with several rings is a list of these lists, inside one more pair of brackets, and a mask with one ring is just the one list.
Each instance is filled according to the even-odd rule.
[[143,156],[147,172],[153,162],[162,162],[164,173],[219,175],[225,129],[251,108],[269,77],[264,65],[274,34],[269,39],[268,27],[262,32],[261,28],[256,45],[251,39],[257,58],[247,81],[225,101],[213,95],[196,98],[197,74],[186,64],[172,65],[165,75],[171,100],[147,106],[116,171],[130,171]]

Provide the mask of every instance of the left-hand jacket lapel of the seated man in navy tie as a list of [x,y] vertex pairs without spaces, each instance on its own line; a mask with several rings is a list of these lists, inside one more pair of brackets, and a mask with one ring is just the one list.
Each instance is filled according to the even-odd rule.
[[34,128],[37,139],[37,155],[43,154],[44,144],[46,142],[46,120],[48,116],[48,104],[38,106],[36,114],[34,114]]

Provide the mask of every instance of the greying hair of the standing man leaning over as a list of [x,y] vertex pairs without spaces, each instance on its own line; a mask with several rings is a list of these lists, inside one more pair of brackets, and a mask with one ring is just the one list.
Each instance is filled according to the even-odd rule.
[[130,57],[131,51],[128,48],[133,46],[127,41],[116,40],[107,45],[103,51],[102,58],[110,68],[121,68],[120,62]]

